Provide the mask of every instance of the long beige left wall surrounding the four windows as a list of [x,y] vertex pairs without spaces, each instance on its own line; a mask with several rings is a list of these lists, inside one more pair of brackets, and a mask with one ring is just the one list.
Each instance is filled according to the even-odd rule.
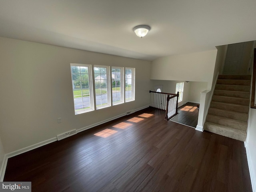
[[[75,115],[70,63],[136,68],[135,101]],[[9,153],[149,105],[150,62],[0,38],[0,82],[0,135]]]

